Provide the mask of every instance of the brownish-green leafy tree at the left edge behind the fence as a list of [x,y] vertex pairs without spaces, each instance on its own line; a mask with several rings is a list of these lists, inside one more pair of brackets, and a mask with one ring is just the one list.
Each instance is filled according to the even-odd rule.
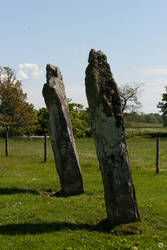
[[31,134],[36,126],[34,106],[28,103],[21,81],[9,67],[0,67],[0,125],[9,134]]

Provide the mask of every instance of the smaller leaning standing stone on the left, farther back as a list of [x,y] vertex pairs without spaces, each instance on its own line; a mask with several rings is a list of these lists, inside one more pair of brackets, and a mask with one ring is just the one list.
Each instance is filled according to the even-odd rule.
[[58,196],[83,193],[82,174],[78,161],[63,78],[58,67],[46,66],[47,83],[43,96],[49,111],[51,138],[57,172],[62,190]]

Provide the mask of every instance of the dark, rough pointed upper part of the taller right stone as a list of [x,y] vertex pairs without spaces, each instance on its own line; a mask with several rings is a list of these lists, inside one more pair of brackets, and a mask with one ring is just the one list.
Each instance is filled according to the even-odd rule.
[[115,117],[117,127],[122,126],[124,129],[119,90],[107,63],[107,56],[102,51],[92,49],[88,61],[85,84],[89,106],[94,109],[92,112],[101,107],[107,117]]

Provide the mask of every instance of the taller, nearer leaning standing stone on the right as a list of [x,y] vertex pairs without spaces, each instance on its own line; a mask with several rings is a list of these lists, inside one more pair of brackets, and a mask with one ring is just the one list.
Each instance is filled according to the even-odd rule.
[[108,221],[116,225],[140,220],[120,96],[107,58],[101,51],[90,51],[85,84]]

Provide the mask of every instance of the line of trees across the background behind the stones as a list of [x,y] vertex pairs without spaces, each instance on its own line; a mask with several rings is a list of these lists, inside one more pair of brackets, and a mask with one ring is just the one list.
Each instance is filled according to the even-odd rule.
[[[163,123],[167,126],[167,87],[162,101],[157,107],[160,114],[144,114],[137,110],[141,106],[138,101],[139,85],[120,87],[122,111],[125,126],[131,122]],[[91,136],[89,108],[68,99],[68,107],[75,137]],[[0,135],[8,131],[9,135],[44,135],[48,127],[48,111],[45,107],[36,110],[28,103],[27,94],[22,90],[21,81],[16,79],[15,72],[9,67],[0,67]]]

